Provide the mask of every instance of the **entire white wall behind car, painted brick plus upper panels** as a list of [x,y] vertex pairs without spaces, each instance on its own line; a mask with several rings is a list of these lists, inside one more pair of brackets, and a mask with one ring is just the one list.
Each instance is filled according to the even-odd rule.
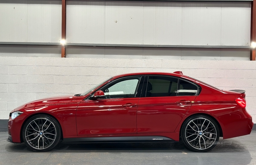
[[67,0],[67,43],[100,46],[67,46],[68,58],[53,58],[61,46],[36,44],[59,43],[61,0],[1,0],[0,119],[23,103],[82,93],[116,74],[180,70],[221,89],[246,90],[256,122],[256,63],[250,49],[235,48],[250,46],[250,4]]

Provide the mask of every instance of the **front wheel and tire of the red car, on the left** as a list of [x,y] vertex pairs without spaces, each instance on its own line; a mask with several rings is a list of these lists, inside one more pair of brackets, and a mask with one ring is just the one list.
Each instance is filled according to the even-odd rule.
[[55,118],[46,114],[38,114],[25,123],[22,138],[32,151],[49,151],[60,142],[61,127]]

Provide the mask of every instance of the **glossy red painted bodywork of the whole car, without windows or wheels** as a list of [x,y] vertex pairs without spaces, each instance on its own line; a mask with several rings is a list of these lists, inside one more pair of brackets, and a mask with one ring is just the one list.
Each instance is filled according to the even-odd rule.
[[[86,99],[109,82],[134,75],[185,79],[199,85],[201,92],[198,96]],[[84,96],[52,97],[15,108],[12,112],[22,111],[23,114],[15,119],[9,117],[8,130],[12,142],[22,142],[24,122],[35,114],[49,114],[60,123],[63,138],[155,135],[179,141],[185,119],[195,114],[207,114],[218,122],[223,138],[227,139],[250,134],[253,127],[250,114],[235,102],[240,97],[245,97],[245,94],[221,91],[182,74],[124,74],[113,77]]]

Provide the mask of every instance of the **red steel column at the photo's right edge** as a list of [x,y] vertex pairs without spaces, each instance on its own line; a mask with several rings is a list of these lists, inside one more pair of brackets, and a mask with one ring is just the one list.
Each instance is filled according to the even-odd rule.
[[[251,5],[251,42],[256,42],[256,0],[252,1]],[[250,51],[250,60],[255,61],[256,50]]]

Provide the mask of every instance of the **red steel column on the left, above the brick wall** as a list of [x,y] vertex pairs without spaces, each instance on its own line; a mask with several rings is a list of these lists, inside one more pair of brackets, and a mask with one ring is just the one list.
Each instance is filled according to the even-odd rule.
[[[61,17],[61,40],[66,40],[66,0],[62,0]],[[61,47],[61,57],[66,56],[66,46]]]

